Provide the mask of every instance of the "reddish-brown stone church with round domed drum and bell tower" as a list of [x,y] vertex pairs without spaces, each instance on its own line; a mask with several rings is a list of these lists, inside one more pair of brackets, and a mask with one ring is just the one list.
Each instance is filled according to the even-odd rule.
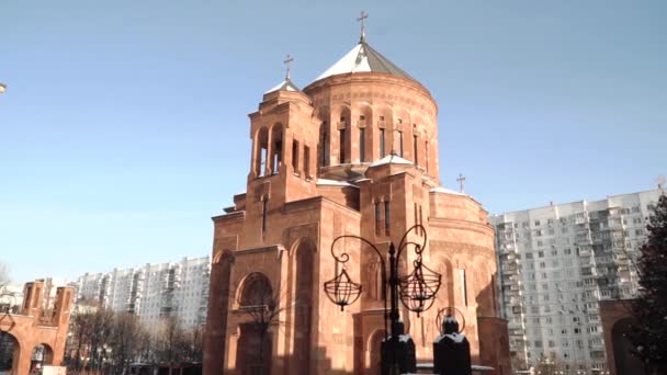
[[[442,275],[433,306],[400,311],[418,362],[432,361],[438,311],[456,307],[473,363],[509,374],[498,318],[494,229],[470,195],[441,186],[438,104],[362,37],[303,90],[290,79],[249,115],[247,190],[213,217],[204,374],[377,374],[385,337],[378,255],[343,241],[359,300],[324,293],[331,242],[361,236],[387,249],[412,225],[423,261]],[[402,264],[411,264],[405,253]],[[405,268],[403,268],[405,269]]]

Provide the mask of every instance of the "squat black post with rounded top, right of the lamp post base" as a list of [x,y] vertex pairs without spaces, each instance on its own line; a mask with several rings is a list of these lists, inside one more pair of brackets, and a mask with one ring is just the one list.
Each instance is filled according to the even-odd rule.
[[439,375],[472,375],[471,344],[459,333],[459,322],[448,316],[442,322],[443,334],[433,341],[433,371]]

